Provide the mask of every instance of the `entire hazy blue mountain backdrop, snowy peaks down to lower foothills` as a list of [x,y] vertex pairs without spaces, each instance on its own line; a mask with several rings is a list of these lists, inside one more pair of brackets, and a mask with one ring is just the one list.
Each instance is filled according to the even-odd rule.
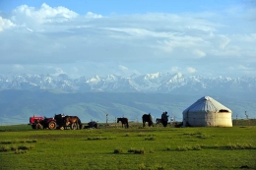
[[115,117],[141,121],[151,112],[160,117],[168,111],[182,119],[182,111],[209,95],[243,118],[256,117],[256,77],[205,78],[181,73],[156,73],[121,77],[109,75],[71,79],[67,75],[0,76],[1,124],[28,123],[32,114],[78,115],[83,122],[105,122]]

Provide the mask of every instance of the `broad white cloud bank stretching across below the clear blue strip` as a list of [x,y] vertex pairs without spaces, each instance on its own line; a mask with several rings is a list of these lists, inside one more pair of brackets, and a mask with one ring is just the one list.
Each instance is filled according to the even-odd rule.
[[0,63],[26,65],[26,72],[81,76],[160,72],[169,66],[175,66],[171,72],[187,68],[185,72],[198,73],[190,66],[214,69],[220,62],[255,66],[255,24],[242,16],[229,22],[239,15],[243,13],[81,16],[66,7],[23,5],[9,18],[0,16]]

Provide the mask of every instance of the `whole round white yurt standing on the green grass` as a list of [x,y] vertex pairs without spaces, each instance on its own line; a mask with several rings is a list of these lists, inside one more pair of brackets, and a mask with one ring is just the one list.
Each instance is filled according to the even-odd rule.
[[232,127],[232,111],[214,98],[204,96],[183,111],[183,126]]

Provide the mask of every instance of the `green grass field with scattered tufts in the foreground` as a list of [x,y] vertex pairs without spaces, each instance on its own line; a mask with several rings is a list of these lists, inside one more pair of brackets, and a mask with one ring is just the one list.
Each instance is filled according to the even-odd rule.
[[[246,122],[245,122],[246,123]],[[256,126],[0,127],[0,169],[256,169]]]

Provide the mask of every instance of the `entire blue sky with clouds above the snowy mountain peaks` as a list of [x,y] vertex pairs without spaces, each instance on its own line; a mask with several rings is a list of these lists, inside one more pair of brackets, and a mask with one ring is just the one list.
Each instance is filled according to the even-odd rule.
[[0,0],[0,75],[256,76],[256,0]]

